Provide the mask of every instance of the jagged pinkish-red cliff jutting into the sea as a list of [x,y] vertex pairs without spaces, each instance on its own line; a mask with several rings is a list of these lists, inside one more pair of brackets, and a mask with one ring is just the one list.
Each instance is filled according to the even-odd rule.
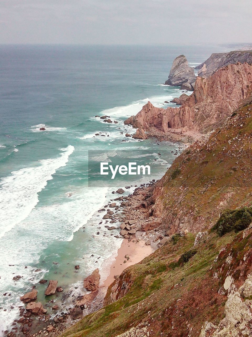
[[204,131],[215,127],[237,109],[250,93],[251,86],[252,66],[230,64],[207,79],[197,77],[193,94],[179,108],[160,109],[148,102],[124,123],[145,131],[151,126],[164,132],[185,127]]

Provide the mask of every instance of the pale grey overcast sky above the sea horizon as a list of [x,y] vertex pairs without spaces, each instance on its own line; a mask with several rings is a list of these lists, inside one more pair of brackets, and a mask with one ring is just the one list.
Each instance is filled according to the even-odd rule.
[[251,0],[0,0],[0,43],[252,42]]

